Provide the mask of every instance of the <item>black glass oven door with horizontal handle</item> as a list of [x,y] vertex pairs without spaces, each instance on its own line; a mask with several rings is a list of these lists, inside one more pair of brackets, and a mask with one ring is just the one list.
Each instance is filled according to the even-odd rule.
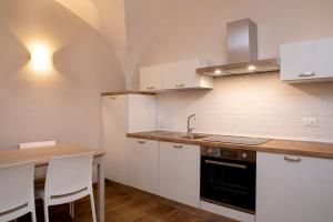
[[255,212],[255,163],[201,157],[201,199],[248,213]]

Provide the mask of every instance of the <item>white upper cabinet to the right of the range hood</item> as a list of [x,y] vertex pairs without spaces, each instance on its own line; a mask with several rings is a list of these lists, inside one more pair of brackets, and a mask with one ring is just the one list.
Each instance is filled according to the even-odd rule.
[[333,37],[282,44],[280,56],[281,80],[333,80]]

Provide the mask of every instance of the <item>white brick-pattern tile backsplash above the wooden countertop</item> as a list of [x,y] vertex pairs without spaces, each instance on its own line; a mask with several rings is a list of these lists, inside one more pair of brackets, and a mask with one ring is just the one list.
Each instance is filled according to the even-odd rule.
[[[333,82],[289,84],[279,73],[225,77],[211,91],[158,95],[158,130],[185,131],[196,114],[196,132],[333,142]],[[317,119],[315,128],[303,118]]]

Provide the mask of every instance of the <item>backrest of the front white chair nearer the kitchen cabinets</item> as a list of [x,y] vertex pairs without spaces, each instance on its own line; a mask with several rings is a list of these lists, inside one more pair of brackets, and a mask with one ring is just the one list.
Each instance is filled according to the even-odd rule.
[[52,158],[48,168],[46,198],[89,189],[92,183],[92,159],[93,152]]

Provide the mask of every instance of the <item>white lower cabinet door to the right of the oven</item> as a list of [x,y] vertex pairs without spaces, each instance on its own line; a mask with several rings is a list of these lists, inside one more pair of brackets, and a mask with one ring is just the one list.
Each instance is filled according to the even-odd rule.
[[332,222],[333,160],[258,153],[256,222]]

